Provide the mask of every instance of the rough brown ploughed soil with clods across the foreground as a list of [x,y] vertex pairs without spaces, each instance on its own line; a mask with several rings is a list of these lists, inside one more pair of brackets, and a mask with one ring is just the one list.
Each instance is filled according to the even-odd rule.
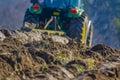
[[120,80],[120,51],[39,32],[0,30],[0,80]]

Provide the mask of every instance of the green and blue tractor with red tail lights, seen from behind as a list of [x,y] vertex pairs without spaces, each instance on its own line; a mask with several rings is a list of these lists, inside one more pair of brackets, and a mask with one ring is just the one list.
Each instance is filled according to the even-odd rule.
[[81,0],[31,0],[21,30],[66,34],[91,46],[93,25]]

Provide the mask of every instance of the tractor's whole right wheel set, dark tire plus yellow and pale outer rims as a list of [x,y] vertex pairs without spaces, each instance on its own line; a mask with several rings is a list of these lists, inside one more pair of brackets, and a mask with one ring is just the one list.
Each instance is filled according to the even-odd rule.
[[81,15],[79,18],[73,18],[70,20],[69,29],[67,31],[67,35],[75,39],[77,42],[81,42],[86,46],[91,46],[92,37],[93,37],[93,25],[90,24],[90,29],[87,33],[87,25],[89,23],[88,17],[85,13]]

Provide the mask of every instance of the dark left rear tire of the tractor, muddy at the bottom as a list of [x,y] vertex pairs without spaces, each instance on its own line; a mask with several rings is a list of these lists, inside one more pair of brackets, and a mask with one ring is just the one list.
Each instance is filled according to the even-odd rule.
[[29,9],[27,9],[24,16],[23,27],[21,28],[21,30],[30,31],[36,27],[36,24],[38,22],[39,16],[37,14],[31,13]]

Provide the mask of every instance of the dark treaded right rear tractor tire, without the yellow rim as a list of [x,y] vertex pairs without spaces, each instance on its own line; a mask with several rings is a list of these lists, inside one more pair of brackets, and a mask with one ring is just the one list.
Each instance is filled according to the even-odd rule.
[[71,19],[67,35],[72,39],[82,42],[83,24],[84,18],[82,17]]

